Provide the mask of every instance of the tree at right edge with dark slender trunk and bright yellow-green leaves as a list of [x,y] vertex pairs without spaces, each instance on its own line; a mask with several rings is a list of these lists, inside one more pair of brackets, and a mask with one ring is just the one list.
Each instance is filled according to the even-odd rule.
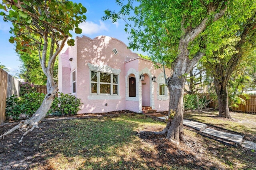
[[231,118],[228,109],[228,82],[239,63],[256,49],[256,1],[236,0],[223,18],[200,37],[206,46],[202,61],[214,78],[219,117]]

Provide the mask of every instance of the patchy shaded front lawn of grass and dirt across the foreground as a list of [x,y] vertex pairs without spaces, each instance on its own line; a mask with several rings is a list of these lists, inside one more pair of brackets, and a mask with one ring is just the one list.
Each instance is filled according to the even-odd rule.
[[[148,131],[165,123],[141,114],[49,121],[28,133],[0,141],[0,168],[58,170],[255,169],[256,154],[232,148],[184,129],[189,143],[173,145]],[[0,132],[7,128],[1,129]],[[146,132],[141,132],[146,131]],[[147,135],[146,135],[147,134]]]

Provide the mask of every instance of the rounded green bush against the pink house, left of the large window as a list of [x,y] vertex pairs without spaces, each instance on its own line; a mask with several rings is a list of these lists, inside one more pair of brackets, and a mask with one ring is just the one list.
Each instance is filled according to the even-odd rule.
[[54,115],[75,115],[81,106],[81,100],[71,94],[59,93],[60,97],[55,98],[49,113]]

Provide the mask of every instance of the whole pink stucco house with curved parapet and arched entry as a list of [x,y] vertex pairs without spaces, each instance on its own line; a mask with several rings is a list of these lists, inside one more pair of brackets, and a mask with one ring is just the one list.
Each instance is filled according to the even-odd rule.
[[76,37],[74,46],[65,46],[59,56],[58,83],[59,92],[82,100],[79,113],[124,109],[141,113],[142,106],[157,111],[169,106],[162,68],[156,69],[122,41],[108,36]]

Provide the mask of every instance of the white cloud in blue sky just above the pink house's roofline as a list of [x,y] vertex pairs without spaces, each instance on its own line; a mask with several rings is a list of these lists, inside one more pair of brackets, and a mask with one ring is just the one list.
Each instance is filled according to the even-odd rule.
[[95,34],[100,33],[101,31],[108,31],[105,23],[100,21],[100,24],[94,23],[92,21],[86,21],[79,24],[79,28],[81,28],[82,34]]

